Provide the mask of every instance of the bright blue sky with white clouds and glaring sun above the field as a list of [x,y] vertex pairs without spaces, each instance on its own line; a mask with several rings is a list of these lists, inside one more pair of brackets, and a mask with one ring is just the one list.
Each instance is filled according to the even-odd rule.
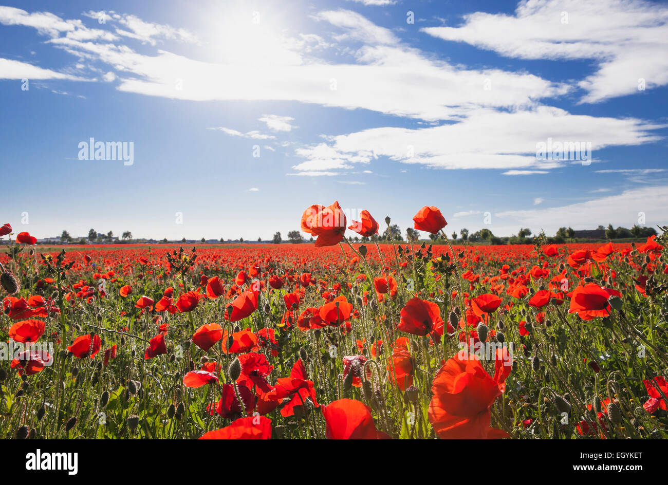
[[[3,5],[17,232],[255,240],[334,200],[404,231],[424,205],[448,234],[668,223],[666,3]],[[91,137],[133,164],[79,160]],[[548,138],[593,162],[538,160]]]

